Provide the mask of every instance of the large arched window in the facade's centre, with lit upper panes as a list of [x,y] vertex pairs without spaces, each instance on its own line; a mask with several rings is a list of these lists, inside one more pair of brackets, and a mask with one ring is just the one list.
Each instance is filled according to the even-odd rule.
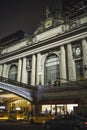
[[45,84],[54,83],[60,77],[60,61],[56,54],[51,54],[45,61]]

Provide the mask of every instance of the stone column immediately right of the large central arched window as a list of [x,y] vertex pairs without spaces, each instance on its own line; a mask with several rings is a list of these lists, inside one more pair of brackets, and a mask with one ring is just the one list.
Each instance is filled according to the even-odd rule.
[[66,82],[66,56],[65,56],[65,48],[61,46],[61,59],[60,59],[60,78],[62,82]]

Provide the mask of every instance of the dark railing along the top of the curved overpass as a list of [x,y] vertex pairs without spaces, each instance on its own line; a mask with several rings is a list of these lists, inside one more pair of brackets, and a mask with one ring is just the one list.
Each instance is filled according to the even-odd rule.
[[5,78],[5,77],[2,77],[2,76],[0,76],[0,82],[8,83],[8,84],[12,84],[12,85],[16,85],[16,86],[19,86],[19,87],[32,89],[32,90],[36,89],[35,86],[33,86],[33,85],[29,85],[29,84],[25,84],[25,83],[22,83],[22,82],[18,82],[16,80],[11,80],[9,78]]

